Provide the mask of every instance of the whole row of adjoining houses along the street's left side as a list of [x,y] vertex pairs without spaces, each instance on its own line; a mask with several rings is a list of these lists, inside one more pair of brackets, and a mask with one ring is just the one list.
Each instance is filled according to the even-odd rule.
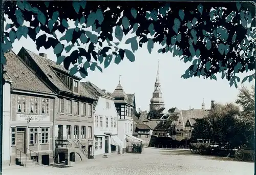
[[63,65],[25,48],[5,53],[3,164],[69,164],[123,154],[133,136],[135,94],[81,82]]

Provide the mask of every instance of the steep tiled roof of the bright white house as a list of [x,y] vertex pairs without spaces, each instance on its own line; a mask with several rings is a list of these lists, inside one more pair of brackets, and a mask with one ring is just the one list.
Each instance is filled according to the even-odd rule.
[[80,84],[84,87],[84,89],[87,90],[87,92],[89,92],[96,99],[96,101],[93,102],[94,108],[96,107],[96,104],[98,103],[99,97],[102,95],[114,100],[113,97],[106,94],[104,91],[102,91],[98,86],[96,86],[92,82],[86,81],[86,82],[81,82]]

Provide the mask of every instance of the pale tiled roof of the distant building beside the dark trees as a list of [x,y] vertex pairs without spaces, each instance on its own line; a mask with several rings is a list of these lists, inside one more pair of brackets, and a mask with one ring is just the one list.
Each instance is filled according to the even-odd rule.
[[185,129],[185,122],[187,121],[188,118],[193,118],[193,119],[202,119],[204,118],[207,114],[209,114],[208,110],[181,110],[179,119],[181,120],[181,123],[177,123],[177,129]]

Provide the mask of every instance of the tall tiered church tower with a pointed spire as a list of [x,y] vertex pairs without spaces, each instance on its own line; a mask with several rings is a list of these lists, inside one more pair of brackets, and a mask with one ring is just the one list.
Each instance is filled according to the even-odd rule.
[[155,91],[153,92],[153,97],[151,98],[150,103],[150,111],[159,110],[160,108],[164,107],[164,101],[162,99],[161,92],[161,83],[159,79],[159,60],[157,67],[157,79],[155,82]]

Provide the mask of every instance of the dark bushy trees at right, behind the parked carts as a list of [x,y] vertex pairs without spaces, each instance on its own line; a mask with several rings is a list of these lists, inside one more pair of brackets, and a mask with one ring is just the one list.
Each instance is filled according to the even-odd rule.
[[217,104],[208,116],[198,119],[194,125],[191,139],[210,139],[220,144],[233,146],[254,145],[254,130],[250,123],[240,120],[239,107],[228,103]]

